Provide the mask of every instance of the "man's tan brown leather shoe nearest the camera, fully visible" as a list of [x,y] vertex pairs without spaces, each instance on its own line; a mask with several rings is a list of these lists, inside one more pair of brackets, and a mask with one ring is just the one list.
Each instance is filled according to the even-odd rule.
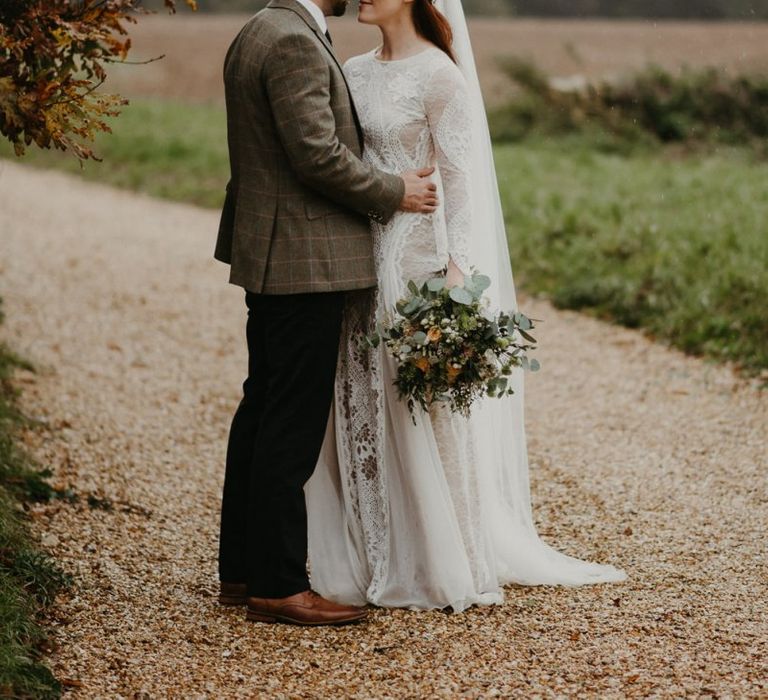
[[346,625],[368,617],[365,608],[339,605],[312,590],[287,598],[247,599],[246,619],[254,622],[287,622],[292,625]]

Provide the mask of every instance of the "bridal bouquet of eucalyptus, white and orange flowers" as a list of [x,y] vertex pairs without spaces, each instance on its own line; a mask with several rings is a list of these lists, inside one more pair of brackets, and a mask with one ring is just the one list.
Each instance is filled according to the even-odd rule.
[[412,415],[416,404],[427,410],[443,401],[468,416],[481,396],[514,393],[508,379],[514,367],[539,369],[527,356],[536,343],[531,319],[520,312],[489,314],[483,292],[490,284],[476,272],[450,289],[444,277],[421,287],[411,281],[397,313],[366,338],[372,347],[383,341],[397,361],[394,383]]

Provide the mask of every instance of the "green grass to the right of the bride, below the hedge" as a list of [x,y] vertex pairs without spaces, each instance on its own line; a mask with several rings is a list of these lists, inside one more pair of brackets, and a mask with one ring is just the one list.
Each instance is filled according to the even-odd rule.
[[497,148],[518,283],[695,354],[768,369],[768,165],[576,139]]

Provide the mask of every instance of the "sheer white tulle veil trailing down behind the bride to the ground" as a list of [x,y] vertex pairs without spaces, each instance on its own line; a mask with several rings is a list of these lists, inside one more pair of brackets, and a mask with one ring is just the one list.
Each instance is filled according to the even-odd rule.
[[[494,166],[488,120],[460,0],[437,0],[435,6],[453,30],[453,50],[467,82],[472,119],[472,234],[471,259],[488,275],[487,294],[492,309],[517,308],[507,233]],[[546,370],[546,368],[545,368]],[[544,370],[544,371],[545,371]],[[562,554],[538,536],[532,517],[528,452],[524,427],[524,373],[512,377],[515,393],[504,399],[485,399],[473,408],[478,475],[488,508],[497,570],[502,582],[579,585],[620,581],[626,574]]]

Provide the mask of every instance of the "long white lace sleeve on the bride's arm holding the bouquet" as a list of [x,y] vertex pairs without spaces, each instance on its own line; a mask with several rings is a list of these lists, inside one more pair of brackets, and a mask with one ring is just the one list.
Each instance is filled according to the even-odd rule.
[[468,91],[453,63],[436,70],[424,95],[435,155],[443,183],[448,254],[465,274],[470,268],[471,134]]

